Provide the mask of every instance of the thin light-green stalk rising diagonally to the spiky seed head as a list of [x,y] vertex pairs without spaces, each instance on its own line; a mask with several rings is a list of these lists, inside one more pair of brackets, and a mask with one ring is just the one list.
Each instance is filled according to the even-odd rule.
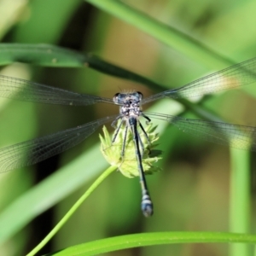
[[44,247],[44,245],[53,237],[55,234],[61,229],[61,227],[67,222],[67,220],[73,215],[74,212],[77,211],[77,209],[82,205],[84,200],[105,180],[110,173],[116,170],[116,167],[109,166],[108,169],[102,173],[100,177],[96,179],[94,183],[90,186],[89,189],[87,189],[82,195],[79,200],[71,207],[71,209],[66,213],[66,215],[61,218],[61,221],[55,225],[55,228],[49,232],[47,236],[44,237],[44,240],[41,241],[37,247],[34,247],[30,253],[27,253],[26,256],[32,256],[38,253],[40,249]]

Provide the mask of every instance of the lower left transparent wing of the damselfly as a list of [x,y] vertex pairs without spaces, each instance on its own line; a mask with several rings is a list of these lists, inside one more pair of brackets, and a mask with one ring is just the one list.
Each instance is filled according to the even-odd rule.
[[89,137],[96,129],[116,119],[117,115],[105,117],[85,125],[58,131],[44,137],[0,149],[0,172],[8,172],[22,166],[30,166],[55,154],[72,148]]

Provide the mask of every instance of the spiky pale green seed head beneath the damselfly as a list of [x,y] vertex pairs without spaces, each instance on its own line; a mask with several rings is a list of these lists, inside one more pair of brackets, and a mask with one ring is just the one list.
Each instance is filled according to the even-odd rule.
[[[143,131],[138,128],[144,147],[142,152],[142,148],[140,146],[143,158],[143,170],[145,174],[152,174],[153,172],[160,171],[160,167],[154,166],[154,163],[161,159],[161,151],[154,149],[157,146],[155,142],[159,139],[158,134],[155,133],[156,127],[156,125],[153,126],[151,123],[144,127],[148,134],[150,145],[148,145],[148,140],[145,137]],[[131,129],[128,129],[127,132],[127,138],[125,142],[125,155],[123,158],[121,157],[121,151],[124,142],[124,132],[125,126],[120,129],[115,142],[112,143],[112,138],[110,137],[107,128],[103,126],[103,137],[100,135],[102,142],[101,151],[108,163],[112,166],[117,166],[119,168],[119,172],[121,172],[123,175],[126,177],[137,177],[137,158],[135,154],[135,146],[132,139]]]

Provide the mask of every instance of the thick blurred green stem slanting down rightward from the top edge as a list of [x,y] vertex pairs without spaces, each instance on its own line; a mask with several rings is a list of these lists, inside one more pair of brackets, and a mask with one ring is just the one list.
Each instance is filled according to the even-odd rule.
[[234,64],[233,61],[228,60],[223,55],[218,55],[217,52],[209,49],[195,38],[177,31],[172,26],[167,26],[160,21],[154,20],[150,16],[136,9],[132,9],[129,5],[121,1],[86,0],[86,2],[137,27],[153,38],[156,38],[160,42],[172,47],[172,49],[176,49],[183,55],[188,56],[206,67],[220,69]]

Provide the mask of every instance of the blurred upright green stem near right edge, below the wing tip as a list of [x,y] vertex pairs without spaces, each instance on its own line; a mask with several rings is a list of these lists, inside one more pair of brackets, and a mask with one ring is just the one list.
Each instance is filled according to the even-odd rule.
[[[230,149],[230,231],[250,231],[250,165],[249,152]],[[248,255],[246,244],[231,244],[230,256]]]

